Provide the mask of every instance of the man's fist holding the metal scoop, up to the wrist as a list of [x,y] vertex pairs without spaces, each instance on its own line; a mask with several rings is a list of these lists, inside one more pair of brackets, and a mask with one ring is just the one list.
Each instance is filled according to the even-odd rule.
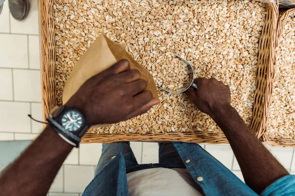
[[189,88],[186,92],[201,112],[212,117],[216,112],[231,107],[231,92],[227,85],[215,78],[197,78],[194,82],[198,90]]

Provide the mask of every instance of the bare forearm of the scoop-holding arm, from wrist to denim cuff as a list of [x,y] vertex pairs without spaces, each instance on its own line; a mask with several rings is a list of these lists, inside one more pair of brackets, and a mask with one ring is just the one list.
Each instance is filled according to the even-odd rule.
[[255,137],[236,109],[229,106],[212,118],[233,148],[245,183],[256,193],[260,194],[272,182],[289,174]]

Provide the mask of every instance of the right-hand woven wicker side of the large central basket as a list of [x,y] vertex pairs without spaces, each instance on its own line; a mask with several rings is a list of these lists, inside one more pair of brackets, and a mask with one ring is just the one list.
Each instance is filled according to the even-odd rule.
[[264,136],[266,131],[268,109],[272,94],[274,77],[276,27],[278,20],[278,3],[270,3],[267,6],[266,23],[263,26],[259,40],[257,63],[257,90],[254,96],[252,130],[257,138]]

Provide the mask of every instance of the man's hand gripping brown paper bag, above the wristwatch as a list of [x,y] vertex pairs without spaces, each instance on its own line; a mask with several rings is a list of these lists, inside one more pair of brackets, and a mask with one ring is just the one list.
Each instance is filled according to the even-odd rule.
[[81,110],[90,126],[138,116],[160,103],[145,91],[147,82],[140,76],[139,71],[130,70],[127,60],[120,60],[87,80],[65,106]]

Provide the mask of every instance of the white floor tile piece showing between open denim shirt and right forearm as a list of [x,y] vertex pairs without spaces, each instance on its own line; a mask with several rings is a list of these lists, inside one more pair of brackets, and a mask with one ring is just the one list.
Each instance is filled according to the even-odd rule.
[[234,152],[229,145],[206,145],[205,149],[228,169],[232,169]]

